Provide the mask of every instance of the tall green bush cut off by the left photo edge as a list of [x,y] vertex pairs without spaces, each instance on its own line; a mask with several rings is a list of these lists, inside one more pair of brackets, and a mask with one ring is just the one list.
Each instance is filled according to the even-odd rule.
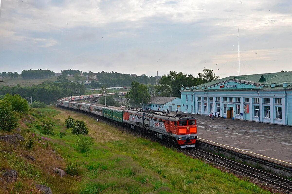
[[18,125],[18,116],[13,111],[11,102],[0,100],[0,130],[10,131]]

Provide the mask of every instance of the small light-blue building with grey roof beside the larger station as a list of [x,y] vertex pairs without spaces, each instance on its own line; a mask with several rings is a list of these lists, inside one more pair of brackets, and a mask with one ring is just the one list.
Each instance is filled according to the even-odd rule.
[[150,102],[148,102],[145,109],[151,108],[152,110],[169,110],[169,111],[181,111],[181,98],[180,97],[162,97],[162,96],[152,96]]

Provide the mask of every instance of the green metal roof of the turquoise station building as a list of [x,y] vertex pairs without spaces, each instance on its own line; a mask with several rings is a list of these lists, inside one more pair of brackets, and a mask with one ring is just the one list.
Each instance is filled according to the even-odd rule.
[[[220,82],[224,82],[230,79],[250,81],[253,83],[264,84],[265,87],[260,88],[260,90],[266,89],[291,89],[292,88],[292,72],[277,72],[277,73],[265,73],[265,74],[251,74],[251,75],[241,75],[241,76],[229,76],[215,81],[210,81],[198,86],[194,86],[193,90],[206,90],[207,87],[215,85]],[[283,83],[288,83],[288,86],[283,88]],[[271,84],[276,84],[275,87],[271,88]],[[199,89],[196,89],[199,87]],[[205,89],[202,89],[205,87]],[[189,90],[192,90],[191,87]],[[182,90],[180,90],[182,91]],[[185,91],[185,89],[183,90]]]

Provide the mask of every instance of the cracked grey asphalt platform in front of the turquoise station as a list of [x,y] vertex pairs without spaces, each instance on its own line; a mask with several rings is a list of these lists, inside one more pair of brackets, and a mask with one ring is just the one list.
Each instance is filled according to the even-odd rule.
[[292,166],[292,127],[192,116],[197,119],[200,141]]

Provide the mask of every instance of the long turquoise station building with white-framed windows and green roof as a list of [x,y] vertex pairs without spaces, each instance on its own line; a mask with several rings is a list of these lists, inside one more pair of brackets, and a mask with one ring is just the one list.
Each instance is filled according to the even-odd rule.
[[229,76],[180,90],[184,113],[292,126],[292,72]]

